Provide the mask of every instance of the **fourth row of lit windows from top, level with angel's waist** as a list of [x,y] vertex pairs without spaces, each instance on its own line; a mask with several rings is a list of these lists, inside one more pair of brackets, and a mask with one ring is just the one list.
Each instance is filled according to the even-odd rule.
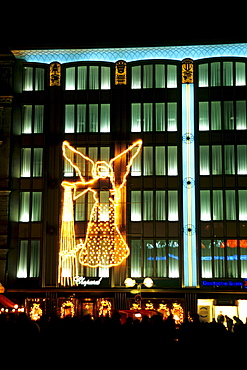
[[[101,203],[109,204],[109,192],[101,191]],[[91,198],[90,198],[91,196]],[[76,220],[88,218],[94,200],[91,192],[76,205]],[[87,204],[87,207],[85,206]],[[108,205],[109,206],[109,205]],[[105,207],[106,217],[109,216]],[[41,221],[42,192],[20,192],[19,221]],[[103,216],[102,216],[103,217]],[[131,221],[177,221],[177,190],[131,191]],[[200,220],[247,220],[247,190],[200,190]],[[105,218],[104,218],[105,221]]]

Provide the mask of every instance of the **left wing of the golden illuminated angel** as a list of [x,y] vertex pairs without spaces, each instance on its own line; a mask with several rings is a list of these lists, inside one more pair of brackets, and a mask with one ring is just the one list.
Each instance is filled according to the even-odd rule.
[[[73,146],[69,144],[68,141],[63,142],[62,152],[64,158],[75,169],[80,178],[80,181],[85,184],[87,182],[85,178],[86,164],[89,163],[90,167],[92,168],[94,166],[94,161],[82,152],[76,150]],[[91,170],[88,172],[90,172],[91,174]]]

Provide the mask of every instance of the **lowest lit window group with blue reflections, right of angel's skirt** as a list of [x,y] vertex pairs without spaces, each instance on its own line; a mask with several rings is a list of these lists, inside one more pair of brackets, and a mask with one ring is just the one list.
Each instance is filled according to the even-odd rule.
[[179,277],[178,240],[132,239],[131,277]]

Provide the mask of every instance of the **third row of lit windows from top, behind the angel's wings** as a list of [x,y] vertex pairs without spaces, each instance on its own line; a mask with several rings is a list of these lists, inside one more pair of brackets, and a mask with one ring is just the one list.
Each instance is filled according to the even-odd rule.
[[[110,160],[110,147],[89,147],[88,150],[80,147],[77,150],[88,155],[94,162]],[[67,156],[80,168],[83,176],[91,173],[89,168],[91,162],[83,161],[81,156],[73,152],[68,152]],[[247,175],[247,145],[200,145],[199,159],[199,173],[202,176]],[[176,146],[144,146],[142,155],[133,163],[131,175],[177,176],[177,162]],[[43,148],[22,148],[21,177],[41,177],[42,169]],[[64,162],[64,176],[74,176],[73,168],[68,161]]]

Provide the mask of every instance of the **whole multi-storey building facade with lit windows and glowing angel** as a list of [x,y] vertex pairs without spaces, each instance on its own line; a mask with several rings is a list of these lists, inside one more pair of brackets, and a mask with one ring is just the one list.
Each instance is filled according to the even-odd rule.
[[245,321],[246,58],[247,44],[1,56],[0,277],[13,300]]

